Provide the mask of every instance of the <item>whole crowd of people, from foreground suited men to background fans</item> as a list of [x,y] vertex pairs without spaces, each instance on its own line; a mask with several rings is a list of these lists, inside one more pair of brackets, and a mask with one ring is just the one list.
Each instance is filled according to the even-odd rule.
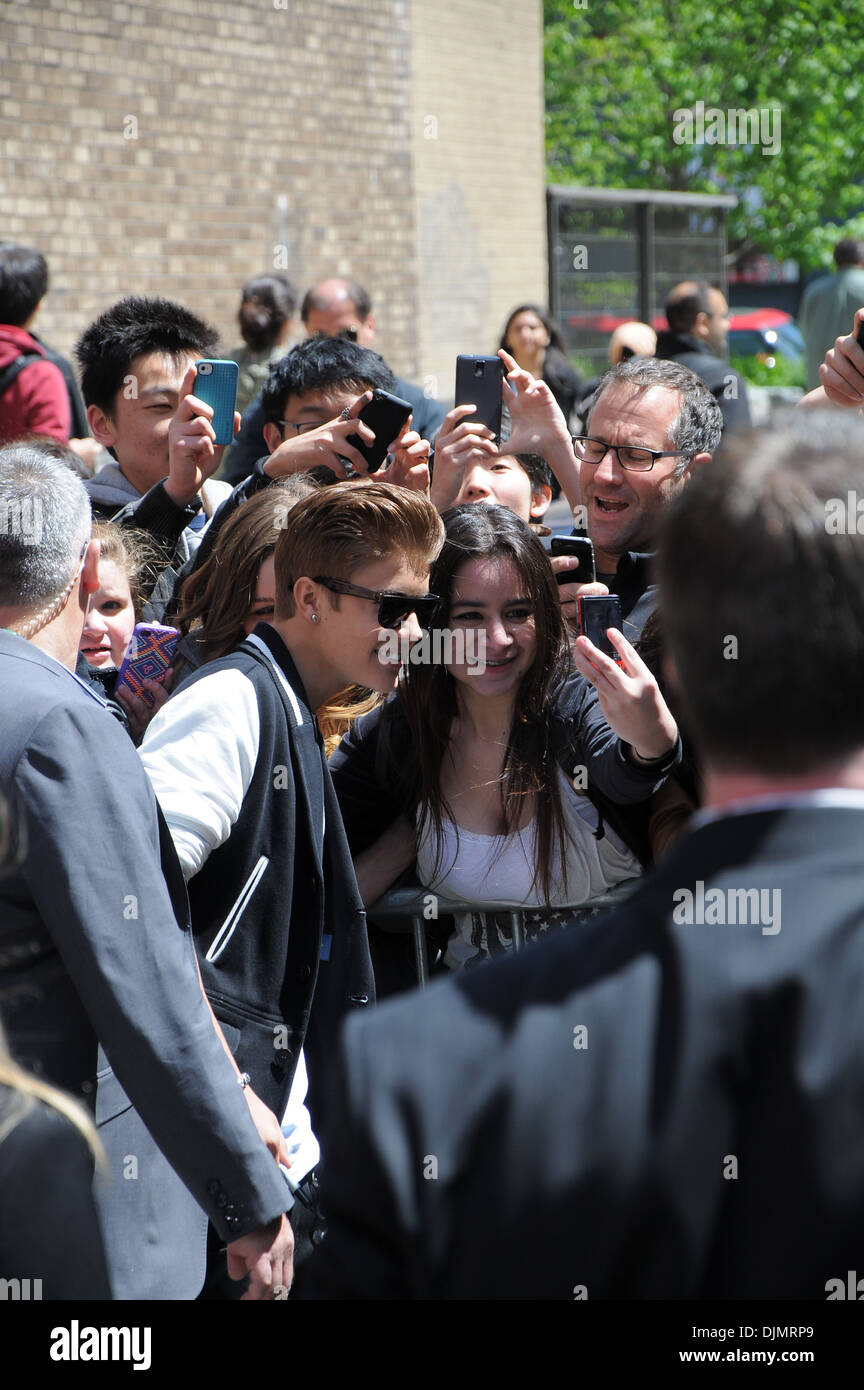
[[[756,434],[720,291],[682,282],[593,382],[521,303],[496,434],[396,377],[361,286],[260,275],[224,449],[208,322],[125,297],[78,386],[31,332],[46,288],[0,247],[0,1277],[69,1297],[75,1250],[93,1300],[294,1270],[308,1298],[824,1297],[864,1233],[835,994],[863,965],[864,549],[824,525],[864,310]],[[413,414],[369,474],[374,392]],[[589,574],[550,553],[553,491]],[[178,641],[131,687],[140,624]],[[376,917],[406,883],[426,995]],[[679,916],[697,883],[785,894],[782,933],[704,892]]]

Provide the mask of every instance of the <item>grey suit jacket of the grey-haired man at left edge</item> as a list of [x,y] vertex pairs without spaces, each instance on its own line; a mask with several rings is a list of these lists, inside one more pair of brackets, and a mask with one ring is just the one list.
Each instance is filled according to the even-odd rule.
[[285,1184],[213,1027],[179,865],[129,737],[89,687],[6,631],[0,730],[18,849],[0,876],[3,1024],[19,1061],[79,1098],[96,1090],[99,1040],[111,1063],[97,1111],[114,1169],[108,1261],[140,1241],[142,1265],[176,1272],[189,1251],[154,1182],[153,1141],[224,1240],[285,1211]]

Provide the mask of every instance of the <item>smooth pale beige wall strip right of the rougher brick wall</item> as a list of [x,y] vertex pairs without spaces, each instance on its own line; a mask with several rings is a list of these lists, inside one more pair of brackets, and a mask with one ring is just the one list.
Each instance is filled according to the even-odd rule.
[[418,0],[413,54],[419,359],[451,396],[456,353],[546,300],[540,0]]

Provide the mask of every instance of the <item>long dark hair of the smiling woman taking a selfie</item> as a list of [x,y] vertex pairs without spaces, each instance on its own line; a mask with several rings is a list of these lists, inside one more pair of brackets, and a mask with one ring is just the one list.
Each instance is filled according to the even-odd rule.
[[[442,599],[442,628],[449,624],[456,574],[467,560],[511,559],[522,573],[532,602],[536,656],[517,691],[501,767],[501,819],[504,833],[514,834],[524,798],[535,798],[538,863],[532,887],[539,883],[549,897],[556,858],[567,872],[567,828],[549,713],[561,682],[572,670],[551,567],[531,528],[508,507],[468,503],[446,512],[443,521],[447,539],[429,577],[431,591]],[[440,866],[443,821],[454,820],[440,778],[450,730],[458,713],[457,684],[446,666],[408,664],[400,687],[400,705],[415,751],[411,766],[403,763],[401,792],[407,806],[421,806],[431,816]]]

